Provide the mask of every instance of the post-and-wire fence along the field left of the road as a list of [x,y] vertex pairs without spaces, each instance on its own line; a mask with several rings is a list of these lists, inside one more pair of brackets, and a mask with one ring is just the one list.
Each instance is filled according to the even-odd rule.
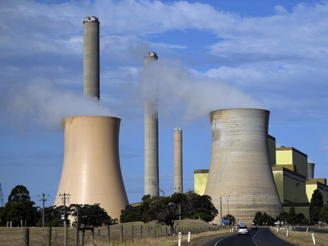
[[[65,233],[67,230],[67,233]],[[218,230],[215,226],[175,227],[174,234],[199,234]],[[174,235],[173,234],[173,235]],[[0,227],[0,246],[77,246],[86,243],[134,241],[143,238],[172,236],[170,227],[155,225],[112,225],[91,228],[65,227]]]

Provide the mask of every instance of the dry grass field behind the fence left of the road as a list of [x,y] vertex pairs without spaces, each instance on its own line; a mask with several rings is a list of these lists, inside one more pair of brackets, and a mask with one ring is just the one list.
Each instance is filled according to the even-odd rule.
[[[170,228],[168,226],[161,226],[154,222],[143,223],[143,222],[130,222],[124,223],[123,225],[123,241],[130,243],[132,240],[132,225],[133,225],[133,239],[135,242],[140,242],[140,226],[142,226],[142,237],[144,240],[149,240],[148,242],[142,242],[140,245],[157,245],[156,243],[162,240],[161,245],[166,245],[172,240],[170,237]],[[148,226],[149,226],[149,235],[148,235]],[[185,237],[184,232],[188,233],[188,228],[192,228],[192,231],[195,231],[196,228],[212,228],[216,229],[216,226],[209,225],[208,223],[200,220],[191,220],[185,219],[177,222],[176,231],[181,231],[182,235]],[[166,230],[167,237],[166,238]],[[30,236],[29,242],[30,246],[43,246],[47,242],[47,228],[42,227],[30,227]],[[223,231],[223,230],[222,230]],[[222,233],[220,231],[220,233]],[[224,230],[226,232],[226,230]],[[209,234],[213,232],[209,232]],[[218,233],[218,232],[214,232]],[[81,234],[81,233],[80,233]],[[204,233],[201,233],[204,234]],[[197,234],[197,236],[200,234]],[[74,245],[76,236],[75,228],[68,228],[68,245]],[[156,236],[156,240],[155,239]],[[196,236],[196,233],[193,233],[193,236]],[[162,238],[161,238],[162,237]],[[110,240],[111,244],[108,244],[108,230],[107,227],[95,228],[94,232],[94,241],[97,242],[97,245],[129,245],[129,244],[117,244],[120,242],[121,238],[121,225],[112,225],[110,226]],[[160,239],[161,238],[161,239]],[[149,244],[154,240],[155,244]],[[167,241],[166,241],[167,240]],[[174,241],[175,239],[173,239]],[[52,236],[51,236],[51,245],[61,246],[64,242],[64,228],[63,227],[53,227]],[[85,231],[84,243],[91,243],[90,231]],[[115,244],[116,243],[116,244]],[[165,244],[163,244],[165,243]],[[23,229],[21,227],[0,227],[0,245],[1,246],[16,246],[23,245]],[[138,245],[135,244],[134,245]]]

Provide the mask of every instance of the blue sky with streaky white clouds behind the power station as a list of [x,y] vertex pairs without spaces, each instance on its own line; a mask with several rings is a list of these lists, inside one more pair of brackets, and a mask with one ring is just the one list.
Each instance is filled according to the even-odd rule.
[[[130,203],[144,190],[139,76],[156,51],[160,186],[173,190],[173,127],[183,129],[183,182],[209,168],[208,113],[270,110],[277,145],[294,146],[328,177],[328,1],[6,1],[0,8],[0,182],[53,204],[63,161],[61,118],[122,119],[120,161]],[[101,105],[82,98],[82,20],[101,25]],[[171,89],[171,88],[174,88]],[[89,107],[90,106],[90,107]],[[81,108],[83,108],[81,110]],[[87,112],[85,112],[85,110]]]

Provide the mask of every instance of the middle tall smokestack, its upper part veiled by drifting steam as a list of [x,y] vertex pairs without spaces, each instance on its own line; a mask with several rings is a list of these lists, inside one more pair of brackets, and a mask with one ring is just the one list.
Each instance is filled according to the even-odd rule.
[[[144,57],[144,67],[158,59],[155,52]],[[157,88],[153,96],[145,100],[145,195],[159,195],[158,177],[158,109]]]

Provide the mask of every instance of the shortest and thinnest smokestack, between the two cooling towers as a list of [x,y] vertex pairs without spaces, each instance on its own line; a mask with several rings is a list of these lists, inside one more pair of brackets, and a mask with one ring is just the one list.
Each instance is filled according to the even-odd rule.
[[182,186],[182,129],[174,128],[174,193],[183,193]]

